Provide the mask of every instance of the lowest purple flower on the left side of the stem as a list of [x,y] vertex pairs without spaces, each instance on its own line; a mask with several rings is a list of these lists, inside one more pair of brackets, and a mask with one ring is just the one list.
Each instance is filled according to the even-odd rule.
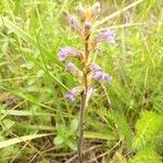
[[72,90],[70,90],[66,95],[65,98],[71,101],[74,102],[76,97],[82,93],[82,91],[84,90],[84,88],[82,86],[78,87],[74,87]]

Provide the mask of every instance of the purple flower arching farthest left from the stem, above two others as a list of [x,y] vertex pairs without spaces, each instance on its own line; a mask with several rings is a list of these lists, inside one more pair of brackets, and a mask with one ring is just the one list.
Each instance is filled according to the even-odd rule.
[[63,62],[67,57],[77,57],[79,51],[75,48],[65,47],[59,50],[59,60]]

